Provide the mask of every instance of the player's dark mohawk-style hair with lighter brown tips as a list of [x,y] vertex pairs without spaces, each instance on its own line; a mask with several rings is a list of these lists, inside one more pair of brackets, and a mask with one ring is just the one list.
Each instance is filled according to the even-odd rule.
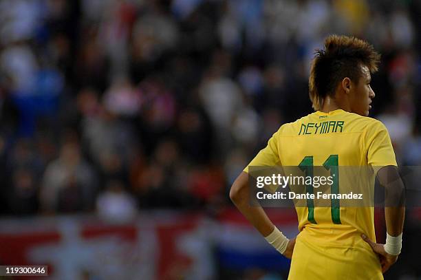
[[320,110],[326,96],[334,96],[338,83],[350,78],[358,83],[365,65],[371,73],[377,71],[380,54],[361,39],[331,35],[325,39],[324,50],[316,50],[310,70],[309,89],[313,108]]

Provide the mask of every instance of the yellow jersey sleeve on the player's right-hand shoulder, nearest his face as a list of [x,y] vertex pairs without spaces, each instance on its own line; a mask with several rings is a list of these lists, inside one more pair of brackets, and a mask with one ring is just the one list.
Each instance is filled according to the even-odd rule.
[[376,121],[373,126],[367,127],[367,162],[376,171],[382,166],[394,165],[396,163],[395,152],[391,144],[389,132],[385,125]]

